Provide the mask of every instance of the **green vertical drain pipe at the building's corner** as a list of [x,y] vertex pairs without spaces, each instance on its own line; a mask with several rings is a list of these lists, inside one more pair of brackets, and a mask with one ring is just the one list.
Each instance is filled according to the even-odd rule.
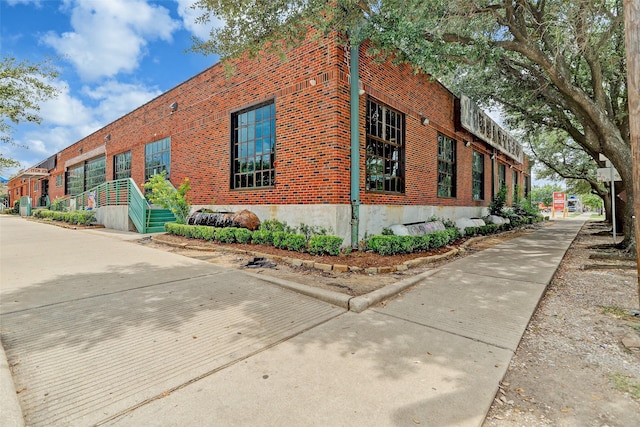
[[360,225],[360,43],[351,37],[349,73],[351,78],[349,120],[351,123],[351,247],[358,247]]

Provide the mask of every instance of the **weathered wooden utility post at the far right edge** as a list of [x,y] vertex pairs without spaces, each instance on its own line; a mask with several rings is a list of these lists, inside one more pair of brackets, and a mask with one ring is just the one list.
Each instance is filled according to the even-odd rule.
[[624,0],[625,46],[627,51],[627,92],[633,175],[633,221],[638,258],[638,304],[640,307],[640,2]]

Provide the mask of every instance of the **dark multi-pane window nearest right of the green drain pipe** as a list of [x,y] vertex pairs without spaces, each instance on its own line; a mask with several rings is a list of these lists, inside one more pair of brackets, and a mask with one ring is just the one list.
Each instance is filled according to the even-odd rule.
[[367,100],[367,190],[404,192],[404,129],[404,114]]

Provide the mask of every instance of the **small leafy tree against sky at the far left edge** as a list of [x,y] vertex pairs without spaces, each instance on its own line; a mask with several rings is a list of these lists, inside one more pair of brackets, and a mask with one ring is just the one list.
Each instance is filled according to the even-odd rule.
[[[17,62],[6,57],[0,62],[0,143],[14,144],[13,126],[23,122],[40,123],[40,103],[55,97],[58,90],[52,85],[58,71],[51,60],[39,63]],[[18,163],[0,152],[0,166]]]

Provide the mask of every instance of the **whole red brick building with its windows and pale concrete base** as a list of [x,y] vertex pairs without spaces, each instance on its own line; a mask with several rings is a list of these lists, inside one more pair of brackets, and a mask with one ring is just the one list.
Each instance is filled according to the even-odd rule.
[[[359,59],[360,238],[433,215],[482,216],[502,182],[528,190],[522,147],[469,100],[409,66],[374,61],[366,47]],[[194,208],[248,208],[348,241],[349,50],[326,38],[284,61],[234,65],[231,75],[220,64],[203,71],[18,174],[11,201],[28,195],[37,206],[127,177],[142,187],[166,170],[176,187],[190,179]]]

